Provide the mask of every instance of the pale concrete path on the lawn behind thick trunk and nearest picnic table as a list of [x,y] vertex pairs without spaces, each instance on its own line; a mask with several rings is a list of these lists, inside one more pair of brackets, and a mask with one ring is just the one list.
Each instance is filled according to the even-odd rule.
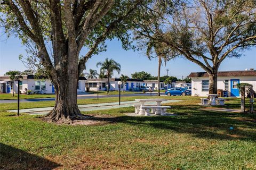
[[[167,100],[163,101],[161,104],[166,103],[174,103],[182,100]],[[131,107],[134,104],[138,104],[138,101],[121,101],[121,105],[119,102],[112,103],[100,103],[100,104],[88,104],[88,105],[78,105],[80,111],[88,112],[88,111],[98,111],[105,109],[113,109],[113,108],[122,108],[122,107]],[[153,102],[146,102],[145,104],[156,104]],[[20,109],[20,113],[26,113],[30,115],[44,115],[49,113],[53,107],[41,107],[41,108],[28,108],[28,109]],[[8,112],[18,112],[17,110],[9,110]]]

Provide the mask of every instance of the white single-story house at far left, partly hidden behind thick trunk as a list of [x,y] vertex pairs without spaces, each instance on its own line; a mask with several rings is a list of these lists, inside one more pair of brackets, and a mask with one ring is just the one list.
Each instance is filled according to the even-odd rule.
[[[77,92],[85,92],[85,77],[79,77]],[[0,87],[2,93],[12,93],[12,81],[9,75],[0,77]],[[20,92],[26,94],[26,91],[39,91],[43,94],[54,94],[54,87],[49,79],[35,79],[34,75],[22,75],[20,79]],[[18,81],[14,82],[14,93],[18,91]]]

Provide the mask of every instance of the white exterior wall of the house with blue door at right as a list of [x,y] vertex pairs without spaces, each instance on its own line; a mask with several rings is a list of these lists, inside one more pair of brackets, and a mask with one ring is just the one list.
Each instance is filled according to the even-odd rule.
[[[239,79],[240,83],[250,83],[253,86],[253,90],[256,91],[256,77],[218,77],[217,87],[218,89],[225,90],[225,80],[228,80],[228,96],[230,96],[230,80]],[[202,80],[209,80],[209,78],[192,78],[191,79],[191,92],[192,96],[207,96],[208,91],[202,91]]]

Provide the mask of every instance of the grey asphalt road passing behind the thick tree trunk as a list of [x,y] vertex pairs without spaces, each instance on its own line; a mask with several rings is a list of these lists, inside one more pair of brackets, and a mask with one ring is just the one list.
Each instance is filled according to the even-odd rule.
[[[161,95],[164,95],[164,93],[161,93]],[[107,97],[118,97],[119,95],[99,95],[99,98],[107,98]],[[129,96],[150,96],[150,93],[146,94],[121,94],[122,97],[129,97]],[[152,96],[157,96],[157,93],[152,93]],[[92,94],[81,94],[77,95],[77,99],[91,99],[91,98],[97,98],[97,95]],[[36,101],[54,101],[55,98],[38,98],[38,99],[20,99],[20,102],[36,102]],[[0,103],[17,103],[17,100],[0,100]]]

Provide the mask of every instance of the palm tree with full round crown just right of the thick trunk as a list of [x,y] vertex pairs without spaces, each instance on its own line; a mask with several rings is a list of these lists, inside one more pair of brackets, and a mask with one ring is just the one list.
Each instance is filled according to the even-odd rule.
[[98,67],[99,65],[101,66],[100,73],[107,75],[107,78],[108,78],[107,92],[109,92],[109,78],[111,77],[111,75],[113,75],[114,71],[116,71],[118,74],[120,73],[121,65],[116,61],[114,61],[112,58],[110,60],[106,58],[104,62],[98,62],[96,66]]

